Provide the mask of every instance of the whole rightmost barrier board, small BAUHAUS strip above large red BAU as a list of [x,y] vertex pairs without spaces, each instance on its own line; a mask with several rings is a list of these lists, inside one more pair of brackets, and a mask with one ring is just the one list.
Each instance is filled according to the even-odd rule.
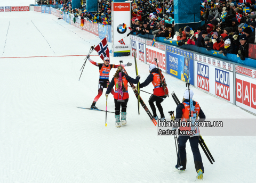
[[236,105],[256,114],[256,70],[235,65]]

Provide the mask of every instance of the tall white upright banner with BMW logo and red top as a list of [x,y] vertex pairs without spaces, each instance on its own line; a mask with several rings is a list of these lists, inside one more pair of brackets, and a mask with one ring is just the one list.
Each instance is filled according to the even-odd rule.
[[130,36],[126,36],[129,33],[128,27],[131,27],[130,6],[130,3],[112,3],[113,56],[130,55]]

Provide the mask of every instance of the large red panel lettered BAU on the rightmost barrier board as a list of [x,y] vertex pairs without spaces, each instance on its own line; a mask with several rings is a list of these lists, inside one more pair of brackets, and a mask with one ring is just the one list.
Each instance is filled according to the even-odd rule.
[[236,102],[256,109],[256,85],[236,78]]

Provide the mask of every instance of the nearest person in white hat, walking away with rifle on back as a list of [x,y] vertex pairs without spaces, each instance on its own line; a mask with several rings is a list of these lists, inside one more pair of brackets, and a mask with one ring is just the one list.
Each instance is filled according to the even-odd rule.
[[[194,92],[190,89],[190,99],[193,98]],[[188,89],[185,90],[185,93],[183,94],[183,99],[182,103],[180,103],[177,108],[176,108],[176,120],[181,119],[181,121],[189,121],[189,93]],[[201,107],[199,104],[195,101],[193,101],[193,105],[195,106],[195,113],[198,117],[201,119],[200,121],[205,120],[205,114],[202,111]],[[191,127],[180,127],[180,131],[183,130],[189,130],[191,131]],[[199,129],[198,129],[199,132]],[[175,165],[175,168],[179,168],[179,162],[182,165],[182,168],[180,169],[181,171],[185,171],[186,165],[187,165],[187,155],[186,155],[186,143],[189,140],[191,150],[193,152],[194,156],[194,163],[195,163],[195,168],[197,172],[197,179],[203,179],[203,173],[204,173],[204,165],[202,162],[202,157],[199,152],[198,144],[199,144],[199,136],[179,136],[178,142],[179,142],[179,152],[180,156],[178,156],[178,163]]]

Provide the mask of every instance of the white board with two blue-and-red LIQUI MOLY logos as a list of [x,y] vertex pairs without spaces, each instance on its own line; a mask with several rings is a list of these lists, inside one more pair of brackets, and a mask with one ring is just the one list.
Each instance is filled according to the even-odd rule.
[[234,104],[234,64],[194,54],[195,87]]

